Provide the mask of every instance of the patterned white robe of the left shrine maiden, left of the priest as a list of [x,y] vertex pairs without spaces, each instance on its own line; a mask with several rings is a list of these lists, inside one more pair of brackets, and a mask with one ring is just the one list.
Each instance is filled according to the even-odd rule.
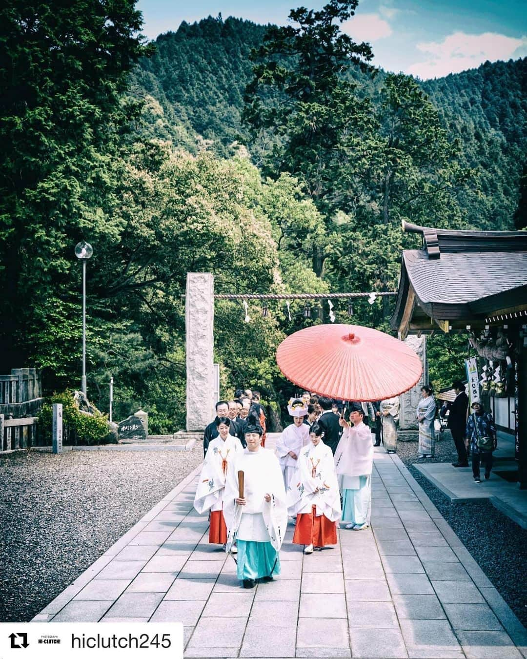
[[227,435],[224,442],[218,436],[210,442],[194,497],[194,508],[200,515],[208,510],[221,510],[223,507],[225,478],[229,471],[234,469],[236,453],[243,453],[242,444],[237,437]]

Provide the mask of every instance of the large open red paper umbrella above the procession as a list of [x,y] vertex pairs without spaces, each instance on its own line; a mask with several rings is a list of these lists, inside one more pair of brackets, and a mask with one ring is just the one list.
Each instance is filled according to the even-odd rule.
[[281,372],[294,384],[343,401],[382,401],[408,391],[422,373],[402,341],[360,325],[316,325],[279,345]]

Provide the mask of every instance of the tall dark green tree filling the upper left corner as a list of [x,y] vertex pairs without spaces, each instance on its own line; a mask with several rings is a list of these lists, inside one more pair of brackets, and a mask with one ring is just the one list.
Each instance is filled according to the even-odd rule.
[[135,112],[121,93],[151,52],[141,25],[134,0],[7,0],[0,10],[4,368],[24,364],[20,335],[70,279],[74,244],[108,221],[112,156]]

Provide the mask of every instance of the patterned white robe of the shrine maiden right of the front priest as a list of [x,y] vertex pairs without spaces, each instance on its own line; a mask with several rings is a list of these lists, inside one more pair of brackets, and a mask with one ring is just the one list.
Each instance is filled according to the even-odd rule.
[[310,513],[316,505],[316,517],[324,515],[330,522],[341,519],[341,495],[329,446],[322,441],[305,446],[294,476],[294,486],[287,492],[289,515]]

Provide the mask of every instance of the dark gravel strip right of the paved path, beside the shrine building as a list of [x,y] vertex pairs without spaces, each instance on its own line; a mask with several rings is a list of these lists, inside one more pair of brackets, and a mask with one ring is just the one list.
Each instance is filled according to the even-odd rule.
[[[527,530],[503,515],[489,501],[452,503],[413,466],[418,456],[417,434],[407,437],[414,441],[398,442],[397,455],[527,627]],[[426,463],[457,461],[450,432],[445,431],[443,437],[440,442],[435,442],[435,458],[427,459]]]

